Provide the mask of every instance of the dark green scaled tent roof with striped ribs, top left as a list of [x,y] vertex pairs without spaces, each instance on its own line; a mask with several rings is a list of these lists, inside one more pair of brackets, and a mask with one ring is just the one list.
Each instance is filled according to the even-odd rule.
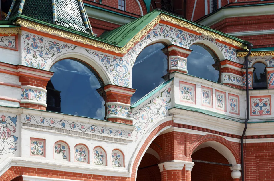
[[[53,5],[55,1],[55,5]],[[18,15],[35,18],[47,23],[54,23],[66,28],[92,34],[89,21],[85,22],[86,12],[81,12],[78,0],[16,0],[8,19],[13,20]],[[19,12],[23,2],[22,12]],[[81,1],[82,3],[82,1]],[[56,21],[53,16],[53,6],[56,11]],[[88,24],[88,25],[87,25]]]

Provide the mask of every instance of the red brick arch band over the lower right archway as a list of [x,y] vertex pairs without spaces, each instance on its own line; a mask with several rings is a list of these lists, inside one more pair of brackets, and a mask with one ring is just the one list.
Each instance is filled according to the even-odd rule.
[[210,141],[211,142],[218,142],[218,143],[222,144],[223,146],[225,146],[225,148],[227,148],[233,154],[236,163],[241,164],[240,155],[235,150],[235,146],[233,146],[225,138],[223,138],[221,136],[217,136],[217,135],[211,135],[211,134],[203,135],[203,136],[199,137],[198,139],[196,139],[192,144],[190,144],[190,146],[189,146],[189,151],[190,152],[189,152],[188,157],[191,158],[191,155],[192,155],[193,151],[196,148],[198,148],[198,146],[200,146],[203,143],[210,142]]

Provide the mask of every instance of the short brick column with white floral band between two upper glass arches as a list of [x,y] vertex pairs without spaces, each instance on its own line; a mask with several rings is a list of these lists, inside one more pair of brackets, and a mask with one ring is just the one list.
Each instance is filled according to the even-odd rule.
[[177,45],[168,46],[169,73],[181,72],[187,74],[187,57],[192,50]]

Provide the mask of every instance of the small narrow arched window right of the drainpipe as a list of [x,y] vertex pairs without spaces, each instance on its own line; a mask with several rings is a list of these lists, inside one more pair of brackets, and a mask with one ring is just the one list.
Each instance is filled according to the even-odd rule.
[[255,63],[253,66],[253,89],[267,89],[266,83],[266,65],[261,62]]

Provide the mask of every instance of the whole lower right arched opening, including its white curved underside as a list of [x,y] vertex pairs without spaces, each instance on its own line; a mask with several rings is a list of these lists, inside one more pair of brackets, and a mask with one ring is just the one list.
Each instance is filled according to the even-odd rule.
[[230,166],[236,161],[221,143],[205,142],[194,150],[191,158],[195,163],[191,171],[192,181],[233,181]]

